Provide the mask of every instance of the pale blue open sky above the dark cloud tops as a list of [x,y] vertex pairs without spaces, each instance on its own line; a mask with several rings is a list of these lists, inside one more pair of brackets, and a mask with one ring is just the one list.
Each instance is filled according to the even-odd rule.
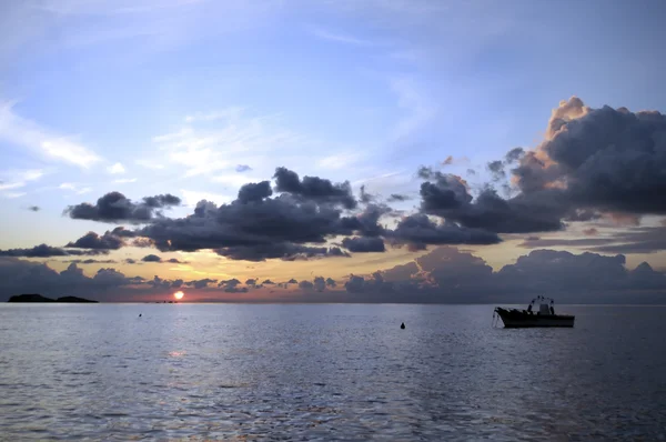
[[417,195],[417,168],[452,155],[450,170],[477,170],[465,179],[481,187],[488,161],[539,144],[561,100],[666,109],[664,12],[596,0],[2,2],[0,248],[101,232],[62,210],[110,191],[172,193],[182,217],[279,165]]

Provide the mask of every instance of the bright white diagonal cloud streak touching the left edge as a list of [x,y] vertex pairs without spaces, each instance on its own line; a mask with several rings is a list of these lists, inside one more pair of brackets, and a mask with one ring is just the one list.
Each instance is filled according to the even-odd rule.
[[101,160],[84,145],[68,138],[50,133],[37,123],[17,115],[14,103],[0,102],[0,140],[33,149],[54,160],[78,165],[83,169]]

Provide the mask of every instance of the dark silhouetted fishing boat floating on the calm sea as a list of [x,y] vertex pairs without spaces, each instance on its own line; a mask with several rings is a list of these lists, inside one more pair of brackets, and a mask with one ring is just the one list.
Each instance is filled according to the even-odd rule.
[[[534,305],[538,303],[538,311],[534,312]],[[532,327],[574,327],[576,319],[573,314],[555,314],[555,301],[552,298],[536,297],[532,300],[527,310],[504,309],[496,307],[493,320],[502,320],[505,329],[524,329]],[[494,324],[495,322],[493,322]]]

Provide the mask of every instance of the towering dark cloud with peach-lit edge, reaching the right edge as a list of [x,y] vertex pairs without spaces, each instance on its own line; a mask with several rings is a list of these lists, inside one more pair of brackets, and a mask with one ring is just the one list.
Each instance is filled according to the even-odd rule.
[[[511,150],[488,169],[498,182],[511,169],[514,197],[490,185],[472,195],[456,175],[422,167],[421,209],[466,228],[496,233],[555,231],[564,222],[666,213],[666,115],[562,102],[534,151]],[[637,172],[639,171],[639,172]],[[506,184],[505,184],[506,187]],[[505,188],[506,190],[506,188]]]

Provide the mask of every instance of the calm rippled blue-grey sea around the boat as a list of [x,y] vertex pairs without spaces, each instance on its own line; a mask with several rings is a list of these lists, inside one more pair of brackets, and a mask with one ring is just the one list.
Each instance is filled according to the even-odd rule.
[[666,308],[492,310],[3,304],[0,439],[666,440]]

